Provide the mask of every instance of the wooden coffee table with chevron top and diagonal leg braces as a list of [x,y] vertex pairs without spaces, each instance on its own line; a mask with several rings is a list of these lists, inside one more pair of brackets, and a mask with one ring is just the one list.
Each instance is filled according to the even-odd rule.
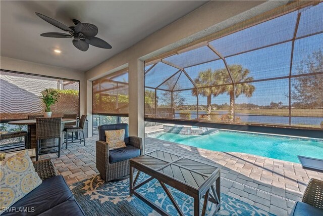
[[[135,179],[133,179],[134,169],[138,170]],[[144,172],[150,178],[136,185],[140,172]],[[184,214],[166,185],[193,197],[194,216],[205,215],[208,201],[216,204],[216,207],[212,208],[212,212],[209,212],[210,215],[213,215],[220,208],[219,167],[159,150],[130,159],[130,196],[136,195],[161,215],[170,215],[142,194],[136,192],[138,188],[153,179],[159,182],[180,215]],[[215,187],[214,183],[216,184]],[[201,209],[200,201],[203,197],[204,202]]]

